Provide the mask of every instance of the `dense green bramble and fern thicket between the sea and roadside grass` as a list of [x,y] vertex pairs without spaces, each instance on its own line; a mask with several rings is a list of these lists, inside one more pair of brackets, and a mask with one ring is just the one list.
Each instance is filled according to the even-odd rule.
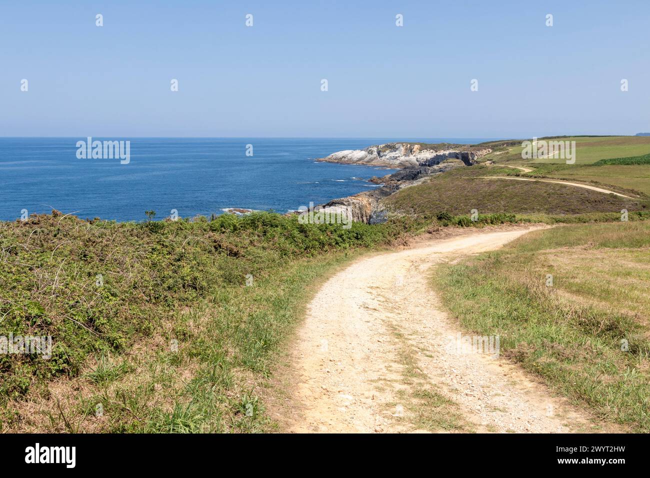
[[[52,336],[52,358],[0,355],[0,404],[34,380],[78,375],[90,354],[109,356],[159,330],[198,299],[263,278],[288,260],[387,243],[422,220],[299,224],[252,213],[208,221],[136,222],[33,215],[0,222],[0,336]],[[101,274],[101,285],[99,275]]]

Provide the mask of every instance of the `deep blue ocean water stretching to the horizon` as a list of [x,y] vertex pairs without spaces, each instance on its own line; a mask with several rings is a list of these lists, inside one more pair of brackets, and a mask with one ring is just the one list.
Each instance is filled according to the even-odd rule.
[[[86,138],[0,138],[0,219],[59,209],[82,218],[157,219],[220,214],[227,207],[285,213],[376,187],[395,170],[317,163],[340,150],[404,139],[93,138],[130,140],[130,162],[77,159]],[[484,139],[409,139],[467,142]],[[253,155],[246,155],[252,144]]]

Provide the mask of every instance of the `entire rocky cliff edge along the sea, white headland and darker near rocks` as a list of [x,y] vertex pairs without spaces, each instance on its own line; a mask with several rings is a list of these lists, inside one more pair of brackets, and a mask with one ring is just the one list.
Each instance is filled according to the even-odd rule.
[[350,165],[385,166],[399,171],[372,178],[370,181],[381,184],[372,191],[335,199],[323,204],[324,207],[346,206],[352,211],[352,220],[384,222],[387,212],[381,200],[396,191],[427,180],[434,174],[452,168],[473,166],[476,159],[490,153],[491,149],[468,144],[425,144],[395,142],[369,146],[363,150],[345,150],[320,158],[318,161],[344,163]]

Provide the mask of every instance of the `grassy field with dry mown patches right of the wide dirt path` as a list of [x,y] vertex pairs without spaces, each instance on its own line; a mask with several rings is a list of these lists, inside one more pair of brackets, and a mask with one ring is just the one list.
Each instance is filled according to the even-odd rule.
[[[552,283],[549,284],[549,276]],[[558,226],[437,269],[461,325],[601,419],[650,432],[650,223]]]

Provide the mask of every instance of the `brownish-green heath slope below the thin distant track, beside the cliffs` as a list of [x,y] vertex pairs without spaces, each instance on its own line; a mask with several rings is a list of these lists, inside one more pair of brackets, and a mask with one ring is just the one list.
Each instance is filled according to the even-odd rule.
[[513,174],[512,168],[456,168],[429,182],[406,187],[386,198],[384,204],[396,211],[420,215],[434,215],[440,211],[469,214],[471,209],[479,213],[573,215],[617,213],[621,209],[643,211],[647,207],[642,200],[567,185],[482,178],[506,174]]

